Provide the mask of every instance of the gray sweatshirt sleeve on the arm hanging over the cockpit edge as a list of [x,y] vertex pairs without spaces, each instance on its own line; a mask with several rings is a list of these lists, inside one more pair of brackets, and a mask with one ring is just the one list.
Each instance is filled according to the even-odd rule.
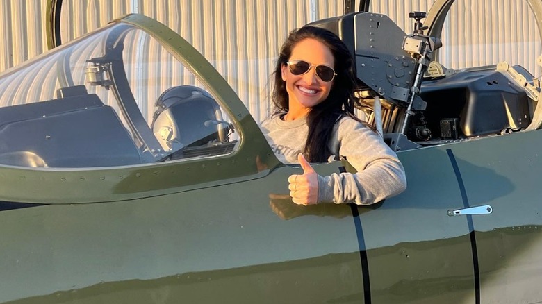
[[397,155],[377,133],[359,121],[344,117],[338,123],[334,140],[338,151],[356,174],[318,176],[318,202],[370,205],[407,188],[404,168]]

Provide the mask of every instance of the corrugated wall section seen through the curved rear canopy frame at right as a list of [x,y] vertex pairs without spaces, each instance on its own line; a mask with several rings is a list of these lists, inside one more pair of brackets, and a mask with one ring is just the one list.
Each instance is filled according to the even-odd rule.
[[541,69],[536,65],[542,52],[540,35],[527,1],[463,0],[461,5],[452,6],[451,15],[443,31],[446,47],[441,62],[472,67],[494,65],[506,58],[540,76]]

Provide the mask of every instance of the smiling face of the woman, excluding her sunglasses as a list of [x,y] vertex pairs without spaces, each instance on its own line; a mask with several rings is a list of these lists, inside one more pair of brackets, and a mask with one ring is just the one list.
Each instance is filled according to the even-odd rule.
[[[322,42],[306,38],[295,44],[289,62],[303,60],[310,65],[327,65],[334,67],[335,60],[328,47]],[[322,81],[311,67],[306,74],[294,75],[288,65],[281,67],[282,80],[286,81],[289,110],[309,110],[324,101],[329,95],[333,81]]]

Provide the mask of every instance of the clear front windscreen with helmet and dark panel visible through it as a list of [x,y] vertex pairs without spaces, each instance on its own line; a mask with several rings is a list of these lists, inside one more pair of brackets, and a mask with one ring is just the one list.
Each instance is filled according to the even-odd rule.
[[111,24],[0,79],[0,163],[110,167],[232,153],[235,124],[204,87],[154,37]]

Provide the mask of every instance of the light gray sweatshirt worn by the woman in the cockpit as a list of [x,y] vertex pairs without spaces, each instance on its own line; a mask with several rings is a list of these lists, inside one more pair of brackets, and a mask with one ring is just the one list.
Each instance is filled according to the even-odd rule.
[[[304,151],[309,126],[306,118],[284,121],[275,115],[263,121],[261,129],[274,154],[285,164],[295,164]],[[356,174],[318,176],[318,203],[369,205],[407,188],[407,179],[397,155],[377,133],[352,117],[343,117],[334,126],[328,144],[330,160],[346,159]]]

